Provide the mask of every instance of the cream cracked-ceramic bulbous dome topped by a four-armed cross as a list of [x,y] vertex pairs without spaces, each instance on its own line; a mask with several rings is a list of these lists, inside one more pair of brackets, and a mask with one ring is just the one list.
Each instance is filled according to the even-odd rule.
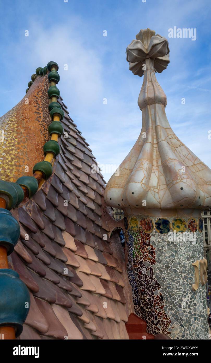
[[[199,216],[211,205],[211,170],[174,134],[165,113],[166,95],[156,80],[169,63],[165,38],[141,30],[127,47],[129,69],[144,82],[138,97],[142,128],[132,150],[105,189],[109,205],[128,214],[169,215],[182,209]],[[145,70],[143,70],[145,69]],[[181,212],[178,211],[181,217]]]

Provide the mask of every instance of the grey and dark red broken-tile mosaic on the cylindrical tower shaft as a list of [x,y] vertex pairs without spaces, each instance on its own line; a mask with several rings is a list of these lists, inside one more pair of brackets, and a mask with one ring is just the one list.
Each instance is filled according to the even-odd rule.
[[[168,220],[173,225],[175,219]],[[181,220],[179,226],[187,224],[187,219]],[[156,225],[156,218],[153,221]],[[192,290],[192,263],[203,259],[202,233],[197,231],[193,242],[171,241],[168,233],[155,228],[152,233],[128,228],[125,234],[134,311],[146,321],[147,332],[170,334],[172,339],[208,339],[206,286]]]

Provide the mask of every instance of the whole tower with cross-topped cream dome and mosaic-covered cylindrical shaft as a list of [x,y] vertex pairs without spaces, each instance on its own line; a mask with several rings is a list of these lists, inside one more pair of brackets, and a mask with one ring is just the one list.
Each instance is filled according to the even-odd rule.
[[211,205],[211,170],[166,118],[166,95],[155,72],[169,63],[167,40],[141,30],[127,47],[127,61],[134,74],[144,74],[138,97],[142,129],[119,173],[108,181],[104,199],[125,214],[134,312],[146,321],[147,333],[207,339],[206,286],[192,290],[192,264],[204,257],[200,216]]

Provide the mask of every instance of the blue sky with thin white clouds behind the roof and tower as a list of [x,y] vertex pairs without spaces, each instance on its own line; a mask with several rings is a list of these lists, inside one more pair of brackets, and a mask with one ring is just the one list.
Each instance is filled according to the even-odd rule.
[[129,71],[127,45],[144,28],[166,38],[174,26],[196,28],[195,41],[168,38],[170,64],[157,79],[172,129],[211,168],[210,11],[210,0],[2,1],[0,115],[24,97],[37,67],[56,61],[61,96],[97,161],[120,164],[141,130],[143,77]]

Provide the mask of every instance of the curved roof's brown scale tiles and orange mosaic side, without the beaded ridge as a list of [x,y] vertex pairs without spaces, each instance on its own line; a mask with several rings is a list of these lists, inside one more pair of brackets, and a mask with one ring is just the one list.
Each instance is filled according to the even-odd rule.
[[[49,139],[48,85],[47,74],[38,76],[18,105],[0,118],[6,130],[0,144],[3,180],[15,181],[26,165],[32,175],[34,163],[43,159],[42,146]],[[132,311],[131,290],[119,235],[109,238],[105,181],[91,173],[92,151],[62,97],[58,102],[68,138],[61,136],[53,175],[11,211],[21,236],[8,261],[31,297],[18,339],[129,339],[125,322]]]

